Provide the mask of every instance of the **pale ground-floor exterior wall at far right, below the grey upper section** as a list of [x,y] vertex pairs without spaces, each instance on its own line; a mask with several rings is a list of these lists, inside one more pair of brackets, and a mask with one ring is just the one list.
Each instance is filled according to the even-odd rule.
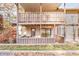
[[66,38],[65,38],[65,41],[69,41],[69,42],[71,42],[71,41],[79,41],[78,26],[75,26],[74,28],[75,28],[75,31],[73,30],[72,26],[67,26],[66,27]]

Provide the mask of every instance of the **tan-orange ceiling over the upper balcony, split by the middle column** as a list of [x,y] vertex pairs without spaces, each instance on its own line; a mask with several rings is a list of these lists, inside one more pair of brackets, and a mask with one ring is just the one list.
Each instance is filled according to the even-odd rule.
[[[41,3],[42,11],[54,11],[57,10],[61,3]],[[25,11],[39,12],[40,3],[21,3],[20,4]]]

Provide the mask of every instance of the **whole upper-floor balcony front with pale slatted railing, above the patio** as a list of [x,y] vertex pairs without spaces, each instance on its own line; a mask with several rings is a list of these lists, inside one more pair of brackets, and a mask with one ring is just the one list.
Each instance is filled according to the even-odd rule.
[[19,13],[19,24],[64,24],[61,12],[26,12]]

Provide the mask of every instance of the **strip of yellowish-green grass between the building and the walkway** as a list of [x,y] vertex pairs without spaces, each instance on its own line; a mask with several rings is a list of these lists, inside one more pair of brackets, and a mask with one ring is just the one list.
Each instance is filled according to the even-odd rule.
[[0,50],[79,50],[79,44],[0,45]]

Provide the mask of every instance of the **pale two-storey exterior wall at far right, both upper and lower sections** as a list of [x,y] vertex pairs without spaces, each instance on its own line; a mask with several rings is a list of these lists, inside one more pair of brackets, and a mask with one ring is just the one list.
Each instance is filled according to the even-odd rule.
[[65,22],[68,25],[66,26],[65,41],[78,41],[78,26],[76,26],[78,24],[78,14],[66,14]]

